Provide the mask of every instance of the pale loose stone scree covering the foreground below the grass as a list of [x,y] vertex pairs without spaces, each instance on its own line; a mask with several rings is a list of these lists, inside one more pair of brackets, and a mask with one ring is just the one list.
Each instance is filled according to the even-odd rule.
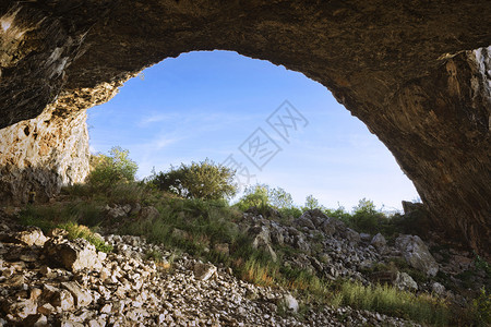
[[[38,229],[15,233],[5,225],[2,228],[0,326],[404,326],[407,323],[376,313],[330,306],[310,310],[301,318],[295,314],[301,304],[286,290],[253,286],[237,279],[225,267],[185,254],[171,262],[171,252],[136,237],[107,235],[105,239],[115,252],[105,255],[80,239],[65,239],[63,233],[45,237]],[[19,238],[5,234],[46,240],[43,245],[35,241],[13,242]],[[158,263],[143,259],[148,251],[158,251],[163,259]],[[280,306],[287,308],[287,314],[280,314]]]

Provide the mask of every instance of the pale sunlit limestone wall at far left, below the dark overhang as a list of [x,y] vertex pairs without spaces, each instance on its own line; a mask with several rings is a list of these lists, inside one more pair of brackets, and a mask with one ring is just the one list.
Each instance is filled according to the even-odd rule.
[[45,202],[88,173],[84,111],[58,117],[53,108],[0,130],[0,203]]

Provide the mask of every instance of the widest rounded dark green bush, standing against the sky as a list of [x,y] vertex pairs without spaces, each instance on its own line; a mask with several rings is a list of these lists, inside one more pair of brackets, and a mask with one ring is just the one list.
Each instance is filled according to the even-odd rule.
[[171,167],[149,178],[148,184],[156,189],[187,198],[223,199],[237,192],[235,171],[206,159],[179,168]]

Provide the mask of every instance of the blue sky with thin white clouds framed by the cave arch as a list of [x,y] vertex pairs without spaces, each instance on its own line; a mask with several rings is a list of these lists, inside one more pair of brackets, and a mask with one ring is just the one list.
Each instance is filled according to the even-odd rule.
[[[280,107],[285,100],[295,108],[285,105],[290,120]],[[286,140],[267,123],[270,116],[284,118],[275,126],[288,131]],[[232,155],[251,183],[280,186],[297,204],[312,194],[332,208],[351,209],[367,197],[393,209],[418,196],[392,154],[324,86],[236,52],[183,53],[144,70],[113,99],[88,110],[88,126],[91,150],[129,149],[140,178],[153,167],[160,171],[205,158],[220,164]],[[244,144],[258,129],[275,149],[258,165],[261,170],[252,162],[258,154]]]

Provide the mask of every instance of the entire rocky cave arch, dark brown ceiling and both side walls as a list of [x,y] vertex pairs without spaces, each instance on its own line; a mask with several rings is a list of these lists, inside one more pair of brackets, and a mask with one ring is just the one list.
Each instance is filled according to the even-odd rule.
[[2,196],[82,180],[83,110],[142,69],[235,50],[325,85],[394,154],[435,228],[489,252],[490,16],[483,0],[4,1]]

